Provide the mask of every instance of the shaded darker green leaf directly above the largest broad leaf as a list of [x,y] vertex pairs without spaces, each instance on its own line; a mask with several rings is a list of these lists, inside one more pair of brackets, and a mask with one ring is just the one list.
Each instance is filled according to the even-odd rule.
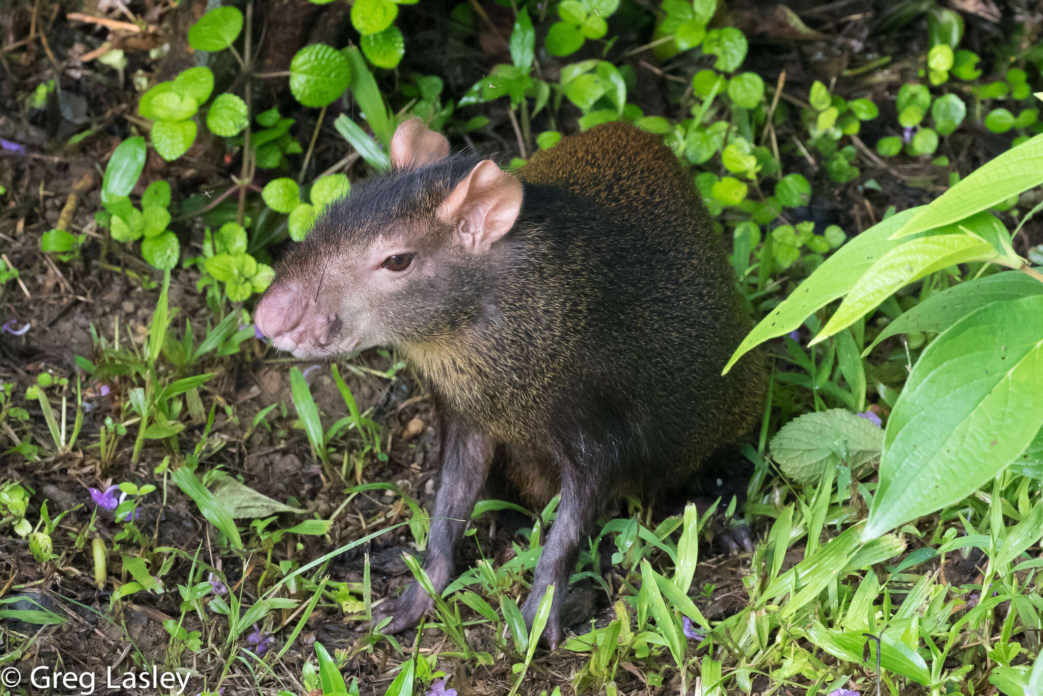
[[937,292],[884,327],[863,356],[895,334],[914,331],[942,333],[971,312],[997,302],[1043,294],[1043,283],[1016,270],[966,281]]

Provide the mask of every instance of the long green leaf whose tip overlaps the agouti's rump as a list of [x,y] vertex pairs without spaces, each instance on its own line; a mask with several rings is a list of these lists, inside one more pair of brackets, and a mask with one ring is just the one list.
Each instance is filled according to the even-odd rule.
[[787,334],[800,327],[816,310],[846,294],[881,256],[901,242],[890,239],[919,209],[892,215],[873,225],[826,259],[821,266],[773,309],[751,331],[732,354],[727,373],[744,354],[763,341]]

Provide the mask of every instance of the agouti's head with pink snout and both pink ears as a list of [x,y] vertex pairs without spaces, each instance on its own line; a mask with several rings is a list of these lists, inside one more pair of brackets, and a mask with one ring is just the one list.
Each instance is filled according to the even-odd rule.
[[520,182],[491,160],[451,157],[416,119],[395,130],[391,163],[276,267],[254,314],[276,347],[309,357],[438,341],[480,311]]

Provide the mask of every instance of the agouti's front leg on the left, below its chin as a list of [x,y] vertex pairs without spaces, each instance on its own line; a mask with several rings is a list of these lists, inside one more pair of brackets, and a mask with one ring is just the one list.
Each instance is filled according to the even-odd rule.
[[[489,438],[466,431],[456,421],[443,422],[441,431],[441,481],[435,496],[428,555],[423,561],[423,570],[435,592],[441,592],[448,584],[453,553],[475,509],[493,452]],[[373,623],[390,616],[391,623],[383,631],[397,633],[419,623],[420,617],[433,605],[431,597],[413,580],[393,606],[382,606],[378,610]]]

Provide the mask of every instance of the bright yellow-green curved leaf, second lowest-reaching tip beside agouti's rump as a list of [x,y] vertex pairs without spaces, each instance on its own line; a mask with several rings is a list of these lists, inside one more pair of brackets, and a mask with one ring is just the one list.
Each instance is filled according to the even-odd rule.
[[906,241],[880,257],[858,279],[808,345],[824,341],[841,329],[850,327],[896,290],[914,281],[959,263],[987,261],[998,256],[992,244],[967,234],[933,235]]

